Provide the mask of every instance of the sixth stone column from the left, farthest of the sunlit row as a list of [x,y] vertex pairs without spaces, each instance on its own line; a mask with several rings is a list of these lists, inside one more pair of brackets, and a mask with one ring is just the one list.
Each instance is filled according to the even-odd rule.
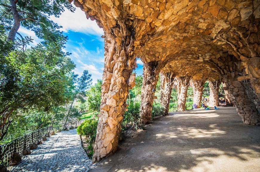
[[220,81],[209,81],[209,106],[219,106],[218,90]]

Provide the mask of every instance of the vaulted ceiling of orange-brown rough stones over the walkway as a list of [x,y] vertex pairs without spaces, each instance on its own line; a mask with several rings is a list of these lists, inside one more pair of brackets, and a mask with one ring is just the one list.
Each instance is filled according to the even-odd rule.
[[[187,61],[189,68],[196,68],[192,58],[221,66],[218,57],[225,51],[237,58],[243,56],[246,61],[248,57],[259,57],[257,0],[76,0],[74,3],[88,18],[96,20],[105,33],[112,33],[118,46],[127,44],[127,49],[144,62],[176,63],[181,59]],[[123,42],[121,37],[131,39]]]

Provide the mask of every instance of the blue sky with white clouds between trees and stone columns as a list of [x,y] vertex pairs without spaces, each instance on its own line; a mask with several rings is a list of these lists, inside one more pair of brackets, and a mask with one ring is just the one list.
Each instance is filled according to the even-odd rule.
[[[68,36],[65,52],[72,53],[70,58],[76,64],[75,74],[82,75],[84,70],[92,75],[93,84],[97,79],[102,79],[104,67],[104,34],[103,29],[97,26],[95,21],[87,19],[85,13],[76,8],[74,13],[65,10],[59,18],[51,16],[51,20],[62,26],[60,29]],[[31,36],[34,40],[30,46],[35,46],[41,40],[34,32],[20,27],[18,30],[22,35]],[[143,74],[143,63],[137,59],[138,68],[136,73]]]

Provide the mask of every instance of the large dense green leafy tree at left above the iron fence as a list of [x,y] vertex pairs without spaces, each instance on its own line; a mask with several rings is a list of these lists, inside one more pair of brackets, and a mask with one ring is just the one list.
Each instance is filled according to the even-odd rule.
[[65,41],[60,37],[25,52],[14,49],[0,58],[0,140],[19,111],[31,107],[50,111],[70,100],[68,73],[75,65],[61,51]]

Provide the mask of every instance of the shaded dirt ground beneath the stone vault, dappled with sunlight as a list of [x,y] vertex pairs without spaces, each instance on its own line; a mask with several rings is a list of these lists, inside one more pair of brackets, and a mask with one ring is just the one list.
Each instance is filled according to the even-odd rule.
[[124,140],[90,171],[260,171],[260,126],[235,107],[174,112]]

